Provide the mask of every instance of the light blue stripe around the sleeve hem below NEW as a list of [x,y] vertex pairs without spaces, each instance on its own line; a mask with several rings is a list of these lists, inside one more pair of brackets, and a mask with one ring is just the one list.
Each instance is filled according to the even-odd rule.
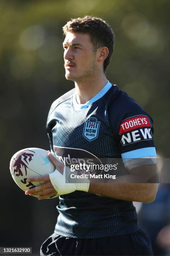
[[134,158],[140,158],[140,157],[147,157],[147,156],[156,156],[156,150],[155,147],[148,147],[148,148],[139,148],[136,150],[132,150],[126,153],[121,154],[123,162],[130,161]]

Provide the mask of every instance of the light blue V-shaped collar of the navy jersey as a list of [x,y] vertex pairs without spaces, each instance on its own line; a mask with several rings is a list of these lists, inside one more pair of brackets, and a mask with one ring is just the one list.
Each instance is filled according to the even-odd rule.
[[100,92],[98,92],[94,97],[92,97],[92,99],[87,101],[85,104],[77,103],[76,93],[75,93],[72,97],[72,104],[74,109],[78,111],[78,110],[88,108],[93,102],[95,102],[96,100],[99,100],[103,95],[105,95],[105,93],[110,89],[110,87],[112,87],[112,84],[110,84],[110,82],[107,81],[107,84],[102,88],[102,90],[100,90]]

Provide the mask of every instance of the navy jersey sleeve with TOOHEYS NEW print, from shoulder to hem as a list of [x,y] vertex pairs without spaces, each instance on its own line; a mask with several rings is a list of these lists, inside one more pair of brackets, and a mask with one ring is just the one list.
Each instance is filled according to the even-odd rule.
[[[114,105],[117,108],[116,119],[113,118],[117,147],[124,163],[130,161],[129,169],[144,165],[142,158],[149,164],[155,163],[155,144],[153,141],[153,120],[143,108],[122,92],[122,97]],[[112,108],[113,110],[113,108]],[[132,161],[140,159],[140,161]],[[125,164],[126,167],[127,164]]]

